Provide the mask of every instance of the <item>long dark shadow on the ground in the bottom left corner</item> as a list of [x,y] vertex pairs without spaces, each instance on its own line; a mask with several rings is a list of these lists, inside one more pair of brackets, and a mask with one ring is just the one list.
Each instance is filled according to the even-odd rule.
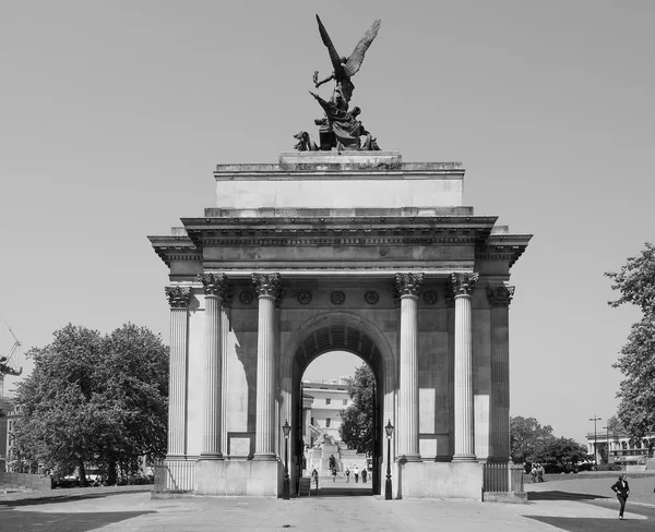
[[154,511],[94,511],[78,512],[41,512],[22,511],[13,508],[0,509],[0,530],[12,532],[31,532],[43,530],[48,532],[86,532],[107,524],[124,521]]

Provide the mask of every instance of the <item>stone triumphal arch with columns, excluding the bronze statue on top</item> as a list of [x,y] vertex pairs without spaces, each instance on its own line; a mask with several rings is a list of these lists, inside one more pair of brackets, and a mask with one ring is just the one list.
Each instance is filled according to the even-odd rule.
[[373,492],[391,421],[394,498],[479,499],[510,456],[510,269],[531,235],[464,205],[460,162],[294,152],[214,178],[215,206],[150,237],[169,268],[165,487],[281,496],[288,421],[294,496],[300,378],[341,350],[376,374]]

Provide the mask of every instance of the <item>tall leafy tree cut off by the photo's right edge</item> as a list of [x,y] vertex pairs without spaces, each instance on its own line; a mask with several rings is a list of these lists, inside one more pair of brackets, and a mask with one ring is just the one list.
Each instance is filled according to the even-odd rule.
[[621,295],[610,306],[638,305],[642,319],[632,325],[628,343],[614,364],[626,376],[619,386],[618,416],[628,434],[638,439],[655,427],[655,245],[645,244],[618,273],[605,274]]

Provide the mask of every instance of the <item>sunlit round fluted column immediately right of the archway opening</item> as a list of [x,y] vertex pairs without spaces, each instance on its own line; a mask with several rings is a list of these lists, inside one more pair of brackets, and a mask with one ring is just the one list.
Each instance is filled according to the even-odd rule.
[[398,457],[420,461],[418,451],[418,292],[422,274],[396,274],[401,300],[401,385],[397,416]]

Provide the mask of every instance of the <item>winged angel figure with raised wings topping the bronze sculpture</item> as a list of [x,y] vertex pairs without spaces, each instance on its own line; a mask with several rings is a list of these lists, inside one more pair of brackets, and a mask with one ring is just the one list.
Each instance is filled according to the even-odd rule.
[[355,89],[355,85],[353,85],[350,78],[357,74],[357,72],[359,72],[361,63],[364,62],[366,50],[368,50],[369,46],[371,46],[371,43],[378,35],[381,21],[377,20],[373,22],[364,37],[359,40],[359,43],[357,43],[355,50],[353,50],[353,53],[350,53],[350,57],[348,58],[338,56],[336,48],[334,48],[332,39],[330,38],[330,35],[327,35],[327,31],[325,29],[325,26],[323,26],[319,15],[317,15],[317,22],[319,23],[319,33],[321,34],[321,39],[327,48],[334,71],[330,76],[322,81],[319,81],[319,71],[315,71],[313,75],[314,85],[317,88],[319,88],[321,85],[323,85],[323,83],[334,80],[336,85],[334,87],[331,101],[341,110],[347,111],[350,97],[353,96],[353,90]]

